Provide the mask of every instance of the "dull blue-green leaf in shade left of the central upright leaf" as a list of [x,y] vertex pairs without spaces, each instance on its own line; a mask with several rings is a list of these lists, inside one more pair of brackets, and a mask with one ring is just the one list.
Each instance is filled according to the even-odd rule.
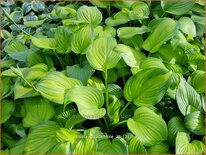
[[67,66],[68,76],[80,80],[83,85],[87,84],[88,79],[92,76],[94,71],[95,70],[89,64],[85,64],[82,68],[78,64]]

